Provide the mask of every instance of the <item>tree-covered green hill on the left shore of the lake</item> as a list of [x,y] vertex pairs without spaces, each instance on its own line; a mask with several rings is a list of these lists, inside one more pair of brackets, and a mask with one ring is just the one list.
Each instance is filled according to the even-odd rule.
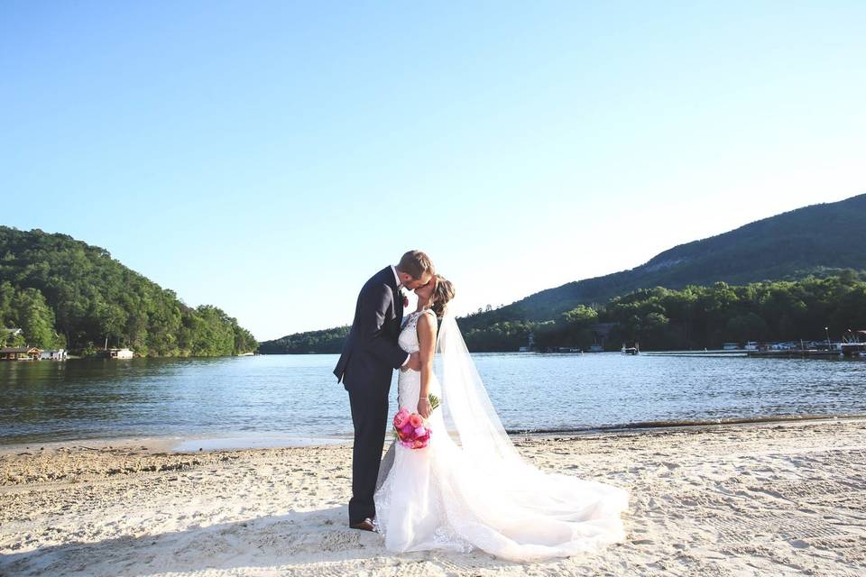
[[0,321],[26,324],[33,344],[86,352],[107,338],[152,356],[255,347],[253,335],[222,311],[187,307],[105,249],[68,235],[0,226],[0,255]]

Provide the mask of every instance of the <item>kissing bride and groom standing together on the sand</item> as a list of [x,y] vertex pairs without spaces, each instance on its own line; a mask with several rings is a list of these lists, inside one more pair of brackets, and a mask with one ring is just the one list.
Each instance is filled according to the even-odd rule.
[[[402,288],[418,297],[406,316]],[[455,295],[421,251],[358,294],[334,370],[355,426],[349,527],[380,533],[393,552],[477,548],[516,562],[622,541],[626,490],[542,472],[517,452],[450,312]],[[429,438],[420,448],[392,443],[382,460],[394,370],[398,409],[423,419]]]

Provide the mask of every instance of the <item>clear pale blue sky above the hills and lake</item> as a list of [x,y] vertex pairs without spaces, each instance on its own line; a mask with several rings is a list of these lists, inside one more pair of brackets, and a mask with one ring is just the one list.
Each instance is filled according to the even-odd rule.
[[260,339],[410,248],[459,310],[866,191],[862,2],[0,4],[0,224]]

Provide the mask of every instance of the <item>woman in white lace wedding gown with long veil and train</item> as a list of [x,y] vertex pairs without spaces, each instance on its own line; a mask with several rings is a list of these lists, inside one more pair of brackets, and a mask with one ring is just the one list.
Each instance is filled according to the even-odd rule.
[[[478,548],[521,562],[622,541],[628,493],[525,463],[487,397],[455,316],[446,312],[453,285],[437,275],[415,293],[418,310],[407,316],[399,343],[419,351],[422,364],[420,371],[401,371],[398,403],[427,418],[432,433],[423,449],[392,444],[385,463],[393,457],[393,464],[382,464],[374,499],[385,546]],[[431,393],[440,407],[430,407]]]

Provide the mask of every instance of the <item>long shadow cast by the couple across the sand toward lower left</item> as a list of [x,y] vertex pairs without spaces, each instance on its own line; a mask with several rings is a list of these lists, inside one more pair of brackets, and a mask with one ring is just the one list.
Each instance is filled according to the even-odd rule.
[[143,576],[207,570],[238,574],[242,568],[253,574],[343,576],[376,570],[459,573],[473,572],[481,566],[489,569],[492,564],[516,565],[483,552],[392,555],[384,549],[382,536],[350,529],[345,526],[346,518],[345,507],[334,507],[195,526],[159,535],[48,545],[0,556],[0,576]]

